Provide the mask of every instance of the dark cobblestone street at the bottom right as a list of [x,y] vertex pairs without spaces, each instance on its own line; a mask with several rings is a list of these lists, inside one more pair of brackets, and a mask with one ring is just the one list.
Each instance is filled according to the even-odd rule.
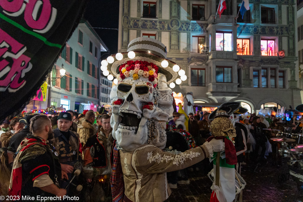
[[[278,180],[280,168],[266,165],[254,172],[254,165],[242,165],[241,176],[246,181],[243,190],[243,201],[283,201],[295,202],[303,200],[297,184],[292,177],[288,180]],[[190,185],[178,184],[177,189],[171,189],[172,194],[167,202],[209,201],[211,196],[211,180],[200,171],[188,171]],[[300,195],[301,194],[301,195]],[[239,201],[239,197],[238,197]]]

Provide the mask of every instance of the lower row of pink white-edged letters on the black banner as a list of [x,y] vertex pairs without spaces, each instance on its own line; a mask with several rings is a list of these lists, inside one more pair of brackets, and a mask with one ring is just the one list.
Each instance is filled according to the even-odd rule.
[[26,81],[20,78],[32,69],[31,58],[23,53],[26,46],[0,29],[0,91],[18,91]]

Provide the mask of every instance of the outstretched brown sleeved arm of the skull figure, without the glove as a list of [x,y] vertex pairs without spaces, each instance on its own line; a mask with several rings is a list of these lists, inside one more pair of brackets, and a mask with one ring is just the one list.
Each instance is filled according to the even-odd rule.
[[[151,145],[138,150],[133,158],[137,161],[137,170],[140,169],[145,173],[154,174],[184,169],[209,157],[210,153],[212,154],[212,149],[209,143],[180,154],[165,152]],[[132,166],[134,167],[134,165]],[[140,171],[138,172],[140,173]]]

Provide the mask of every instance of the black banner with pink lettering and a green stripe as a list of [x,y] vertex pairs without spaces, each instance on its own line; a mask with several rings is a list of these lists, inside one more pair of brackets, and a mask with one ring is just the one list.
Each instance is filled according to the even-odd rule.
[[0,120],[18,113],[52,70],[87,0],[0,0]]

